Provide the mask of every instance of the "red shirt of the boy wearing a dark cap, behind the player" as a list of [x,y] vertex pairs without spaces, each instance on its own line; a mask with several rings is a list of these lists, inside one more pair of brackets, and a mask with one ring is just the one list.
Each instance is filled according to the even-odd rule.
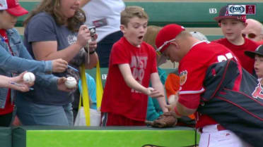
[[257,49],[257,46],[259,46],[255,41],[245,38],[245,43],[240,46],[231,44],[230,41],[228,41],[228,39],[226,38],[218,39],[214,42],[217,42],[218,44],[223,44],[228,49],[230,49],[235,54],[235,56],[238,57],[242,68],[245,68],[245,70],[250,72],[250,74],[253,74],[255,60],[246,56],[244,52],[255,51],[255,49]]

